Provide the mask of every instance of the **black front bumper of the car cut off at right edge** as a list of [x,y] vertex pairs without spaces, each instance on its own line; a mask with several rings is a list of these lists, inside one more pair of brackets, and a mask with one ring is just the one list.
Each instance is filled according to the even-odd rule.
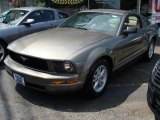
[[160,91],[155,89],[151,84],[148,85],[147,101],[152,112],[160,119]]

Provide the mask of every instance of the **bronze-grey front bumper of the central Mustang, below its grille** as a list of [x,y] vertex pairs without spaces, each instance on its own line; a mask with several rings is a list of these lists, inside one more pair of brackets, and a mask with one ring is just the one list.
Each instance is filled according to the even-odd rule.
[[[5,61],[6,71],[13,76],[16,73],[24,78],[25,86],[46,92],[66,92],[76,91],[83,87],[83,83],[78,81],[78,74],[51,74],[42,71],[35,71],[19,63],[14,62],[9,56]],[[72,84],[53,84],[55,81],[75,80]]]

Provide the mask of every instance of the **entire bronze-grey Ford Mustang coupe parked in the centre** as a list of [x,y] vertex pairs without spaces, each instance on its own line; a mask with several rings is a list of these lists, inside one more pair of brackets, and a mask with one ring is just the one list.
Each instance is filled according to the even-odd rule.
[[87,10],[58,28],[14,41],[4,63],[23,86],[49,92],[83,89],[98,97],[113,71],[140,55],[152,59],[157,33],[156,24],[136,13]]

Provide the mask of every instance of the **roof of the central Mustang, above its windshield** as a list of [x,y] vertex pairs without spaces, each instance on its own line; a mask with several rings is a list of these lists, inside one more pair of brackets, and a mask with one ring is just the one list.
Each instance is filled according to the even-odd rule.
[[90,9],[81,12],[99,12],[99,13],[113,13],[118,15],[124,15],[126,13],[130,13],[130,11],[126,10],[117,10],[117,9]]

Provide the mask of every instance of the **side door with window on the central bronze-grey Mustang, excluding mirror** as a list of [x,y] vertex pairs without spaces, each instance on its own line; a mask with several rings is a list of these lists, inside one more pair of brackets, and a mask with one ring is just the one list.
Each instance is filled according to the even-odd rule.
[[[124,35],[123,31],[128,27],[137,28],[137,32]],[[115,50],[117,54],[116,63],[118,65],[124,64],[137,57],[143,49],[142,44],[144,44],[144,33],[141,20],[137,15],[128,15],[124,20],[119,44]]]

